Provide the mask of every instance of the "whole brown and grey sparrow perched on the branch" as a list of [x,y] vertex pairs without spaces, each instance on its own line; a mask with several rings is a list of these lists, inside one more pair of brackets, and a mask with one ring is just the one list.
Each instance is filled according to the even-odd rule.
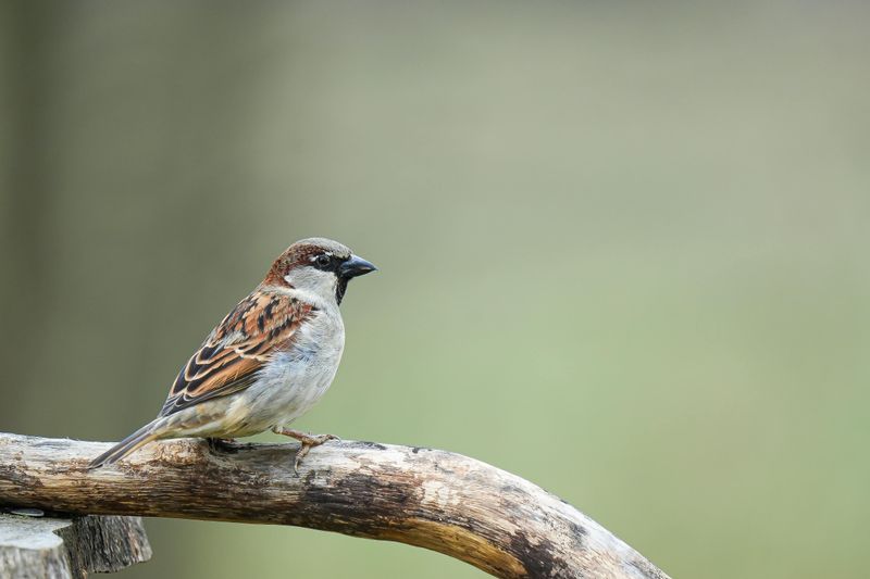
[[160,414],[95,458],[110,465],[152,440],[229,439],[272,429],[301,442],[294,468],[336,437],[286,428],[323,395],[345,347],[338,304],[376,268],[330,239],[297,241],[212,330],[178,373]]

